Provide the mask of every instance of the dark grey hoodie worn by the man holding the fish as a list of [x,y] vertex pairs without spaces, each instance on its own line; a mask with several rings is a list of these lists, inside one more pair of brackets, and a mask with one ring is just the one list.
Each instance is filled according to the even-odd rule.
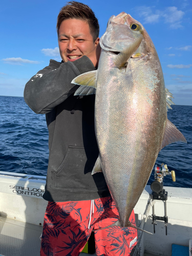
[[[44,199],[55,202],[110,196],[102,173],[91,175],[98,157],[94,131],[95,95],[74,96],[76,76],[95,70],[82,56],[73,62],[50,60],[26,84],[24,98],[37,114],[46,114],[49,164]],[[39,148],[40,154],[40,148]]]

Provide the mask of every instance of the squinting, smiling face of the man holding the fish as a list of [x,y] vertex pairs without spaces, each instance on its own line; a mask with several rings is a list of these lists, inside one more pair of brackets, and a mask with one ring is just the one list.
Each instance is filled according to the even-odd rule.
[[70,18],[63,20],[58,31],[60,56],[63,61],[74,61],[94,51],[99,38],[93,41],[87,22]]

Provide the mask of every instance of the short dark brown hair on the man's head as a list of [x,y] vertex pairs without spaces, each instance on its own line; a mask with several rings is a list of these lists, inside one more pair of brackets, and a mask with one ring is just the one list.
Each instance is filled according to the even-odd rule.
[[88,5],[71,1],[68,2],[66,6],[63,6],[57,17],[57,34],[63,20],[69,18],[81,19],[87,22],[90,27],[90,33],[93,36],[93,41],[97,39],[99,36],[98,19],[95,17],[95,13]]

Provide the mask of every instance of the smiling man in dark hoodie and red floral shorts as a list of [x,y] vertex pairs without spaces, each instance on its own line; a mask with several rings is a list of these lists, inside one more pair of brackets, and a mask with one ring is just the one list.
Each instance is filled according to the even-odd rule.
[[[79,255],[93,229],[117,221],[118,211],[102,173],[91,175],[98,157],[94,132],[95,96],[74,96],[73,78],[97,68],[99,24],[89,6],[72,1],[57,18],[61,63],[39,71],[26,84],[24,98],[46,114],[49,165],[44,199],[49,201],[41,256]],[[134,212],[130,220],[135,224]],[[97,255],[129,255],[137,230],[112,227],[95,232]]]

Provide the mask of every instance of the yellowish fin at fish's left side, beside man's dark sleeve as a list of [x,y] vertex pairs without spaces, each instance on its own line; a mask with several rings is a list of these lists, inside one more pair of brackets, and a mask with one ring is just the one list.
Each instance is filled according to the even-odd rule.
[[75,77],[71,83],[75,83],[80,86],[74,95],[95,94],[97,86],[97,70],[81,74]]

